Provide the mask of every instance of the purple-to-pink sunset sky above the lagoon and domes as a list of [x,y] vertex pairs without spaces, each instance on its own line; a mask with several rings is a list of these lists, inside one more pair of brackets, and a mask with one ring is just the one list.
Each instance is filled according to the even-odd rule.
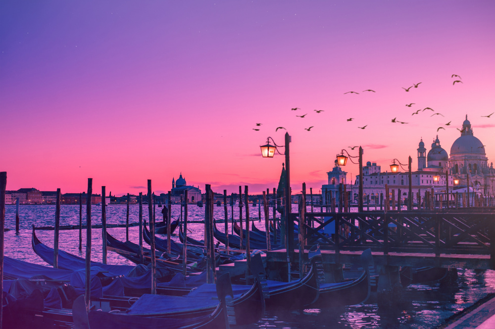
[[[419,141],[438,134],[450,153],[466,115],[490,164],[494,13],[476,0],[4,0],[0,171],[8,190],[93,178],[136,194],[151,179],[161,193],[182,173],[202,191],[259,193],[285,161],[259,146],[288,132],[293,193],[317,193],[341,149],[416,170]],[[354,182],[357,165],[343,169]]]

